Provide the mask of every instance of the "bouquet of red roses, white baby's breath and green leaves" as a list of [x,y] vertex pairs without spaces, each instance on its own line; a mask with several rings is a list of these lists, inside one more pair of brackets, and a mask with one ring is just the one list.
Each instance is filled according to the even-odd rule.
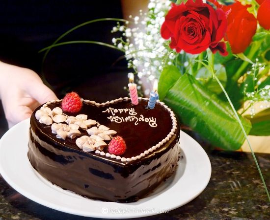
[[[160,99],[216,147],[270,135],[270,0],[150,0],[148,8],[130,16],[132,28],[112,30],[123,32],[112,42],[138,78],[159,79]],[[259,101],[266,110],[255,114]]]

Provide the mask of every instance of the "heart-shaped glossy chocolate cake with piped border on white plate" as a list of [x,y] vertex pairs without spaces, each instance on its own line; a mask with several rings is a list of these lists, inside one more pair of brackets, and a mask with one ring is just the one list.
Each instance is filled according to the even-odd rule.
[[67,113],[61,102],[38,107],[30,119],[29,161],[52,183],[87,198],[134,202],[174,173],[180,126],[164,103],[83,100],[79,112]]

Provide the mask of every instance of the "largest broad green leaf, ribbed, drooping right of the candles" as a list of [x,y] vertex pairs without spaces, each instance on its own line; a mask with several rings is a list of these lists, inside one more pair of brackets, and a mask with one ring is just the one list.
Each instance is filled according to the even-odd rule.
[[[216,147],[237,150],[244,135],[228,103],[218,99],[193,76],[184,74],[168,90],[164,102],[182,122],[208,139]],[[249,120],[240,116],[245,131],[251,129]]]

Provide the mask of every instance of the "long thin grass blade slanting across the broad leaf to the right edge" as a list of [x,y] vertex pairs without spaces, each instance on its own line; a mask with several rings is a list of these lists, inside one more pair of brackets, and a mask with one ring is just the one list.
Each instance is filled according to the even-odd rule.
[[[212,54],[210,54],[210,53],[208,54],[208,59],[209,59],[209,61],[211,61],[211,64],[214,64],[214,55],[213,55],[213,53],[212,53]],[[248,62],[247,62],[247,63],[248,63]],[[211,67],[212,67],[212,66],[211,66]],[[213,65],[213,67],[214,67],[214,65]],[[247,138],[247,134],[246,134],[246,132],[245,132],[245,130],[244,130],[243,124],[242,124],[242,122],[241,122],[241,120],[240,120],[240,118],[239,118],[239,115],[237,114],[237,111],[235,110],[235,108],[234,108],[234,106],[233,106],[233,103],[231,102],[231,99],[230,99],[228,93],[226,92],[225,88],[222,86],[222,84],[221,84],[221,82],[219,81],[219,79],[216,77],[214,68],[213,68],[213,76],[214,76],[214,79],[216,79],[216,82],[218,83],[218,85],[220,86],[220,88],[222,89],[222,91],[224,92],[224,94],[225,94],[225,96],[226,96],[228,102],[230,103],[230,106],[231,106],[231,108],[232,108],[232,110],[233,110],[233,112],[234,112],[234,114],[235,114],[235,116],[236,116],[236,120],[237,120],[237,122],[239,123],[239,125],[240,125],[240,127],[241,127],[241,129],[242,129],[242,132],[243,132],[243,134],[244,134],[244,137],[245,137],[245,139],[246,139],[246,141],[247,141],[247,144],[248,144],[248,146],[249,146],[249,149],[250,149],[250,151],[251,151],[251,154],[252,154],[252,156],[253,156],[253,159],[254,159],[254,161],[255,161],[255,164],[256,164],[257,169],[258,169],[258,171],[259,171],[259,174],[260,174],[260,176],[261,176],[261,179],[262,179],[264,188],[265,188],[265,190],[266,190],[266,194],[267,194],[268,199],[269,199],[269,201],[270,201],[270,195],[269,195],[269,192],[268,192],[268,189],[267,189],[267,186],[266,186],[264,177],[263,177],[263,175],[262,175],[260,166],[259,166],[258,161],[257,161],[257,159],[256,159],[256,156],[255,156],[255,154],[254,154],[254,152],[253,152],[253,149],[252,149],[252,147],[251,147],[251,144],[250,144],[250,142],[249,142],[249,140],[248,140],[248,138]]]

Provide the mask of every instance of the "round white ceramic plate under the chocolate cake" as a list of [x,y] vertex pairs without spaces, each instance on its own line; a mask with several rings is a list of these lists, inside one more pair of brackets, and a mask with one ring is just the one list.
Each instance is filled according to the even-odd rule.
[[50,208],[95,218],[135,218],[156,215],[188,203],[207,186],[211,163],[203,148],[181,131],[182,158],[175,175],[152,194],[133,203],[103,202],[83,198],[54,186],[31,167],[27,158],[29,119],[0,139],[0,174],[19,193]]

